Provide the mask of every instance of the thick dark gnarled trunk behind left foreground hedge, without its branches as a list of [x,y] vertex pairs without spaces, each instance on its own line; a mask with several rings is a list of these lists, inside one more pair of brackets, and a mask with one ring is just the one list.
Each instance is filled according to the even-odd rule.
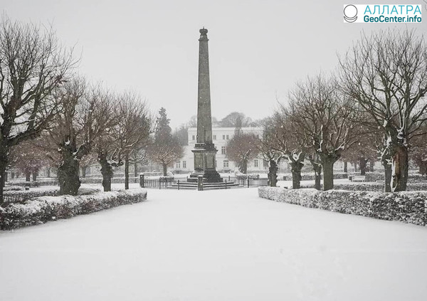
[[79,164],[68,149],[62,152],[63,162],[58,167],[59,194],[70,194],[76,196],[80,188],[78,178]]

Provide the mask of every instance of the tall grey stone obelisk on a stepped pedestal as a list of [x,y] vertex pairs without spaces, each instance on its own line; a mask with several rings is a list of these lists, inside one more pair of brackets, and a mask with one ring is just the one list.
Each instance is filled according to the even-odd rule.
[[203,176],[204,182],[221,182],[216,171],[215,156],[217,149],[212,142],[211,89],[209,83],[208,30],[202,28],[199,38],[199,92],[197,99],[197,137],[194,153],[194,172],[189,181]]

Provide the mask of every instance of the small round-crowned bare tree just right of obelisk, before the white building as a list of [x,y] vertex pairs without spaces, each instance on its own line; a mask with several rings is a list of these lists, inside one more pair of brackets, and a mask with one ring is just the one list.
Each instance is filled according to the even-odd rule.
[[253,133],[237,131],[226,144],[226,157],[236,162],[238,170],[248,173],[248,162],[258,155],[259,139]]

